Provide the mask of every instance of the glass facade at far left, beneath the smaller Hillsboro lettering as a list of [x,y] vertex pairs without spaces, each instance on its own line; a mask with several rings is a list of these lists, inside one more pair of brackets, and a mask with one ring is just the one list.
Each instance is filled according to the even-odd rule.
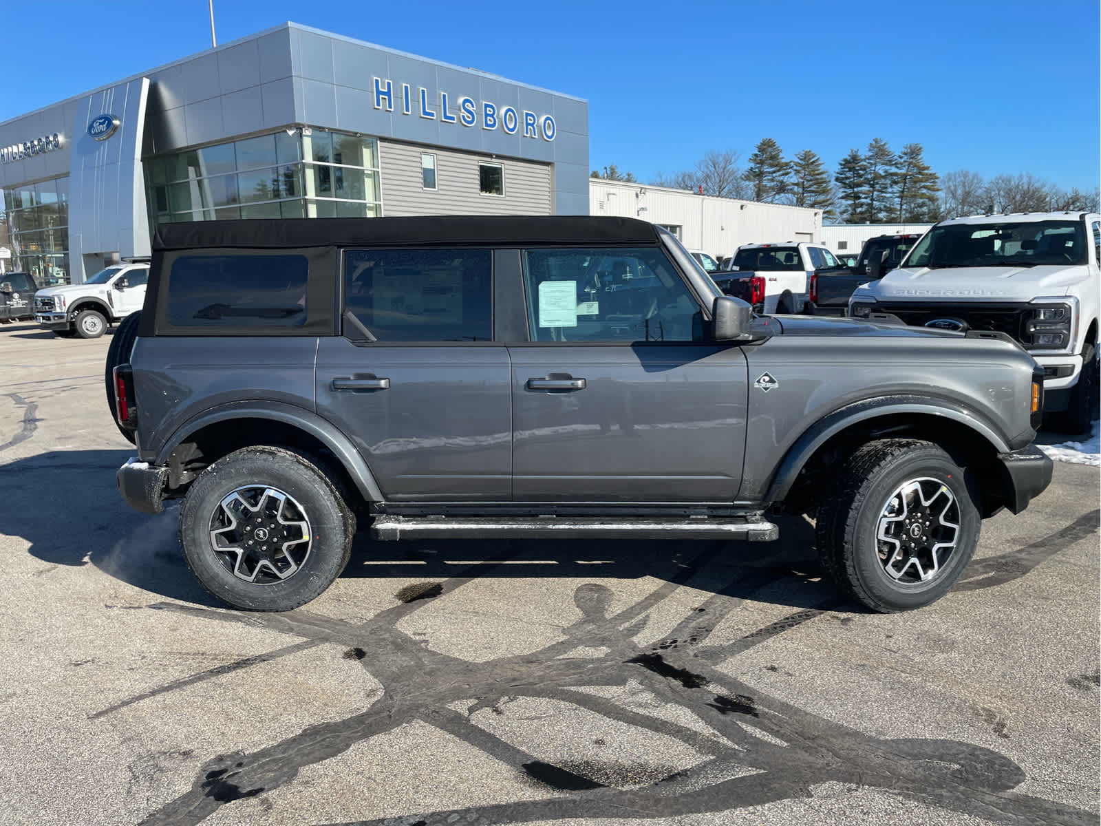
[[68,178],[6,187],[11,261],[6,269],[29,272],[44,286],[69,283]]

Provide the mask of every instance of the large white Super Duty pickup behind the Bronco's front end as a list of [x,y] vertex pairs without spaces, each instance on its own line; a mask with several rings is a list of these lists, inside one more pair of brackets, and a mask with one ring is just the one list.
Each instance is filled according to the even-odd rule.
[[[1026,213],[934,226],[897,269],[849,301],[914,326],[1004,333],[1044,368],[1049,426],[1084,433],[1098,417],[1101,215]],[[991,389],[996,392],[996,389]]]

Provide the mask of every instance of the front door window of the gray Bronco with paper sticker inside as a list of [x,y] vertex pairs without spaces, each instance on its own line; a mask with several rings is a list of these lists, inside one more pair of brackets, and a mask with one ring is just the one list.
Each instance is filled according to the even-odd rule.
[[533,341],[698,341],[699,306],[658,249],[524,252]]

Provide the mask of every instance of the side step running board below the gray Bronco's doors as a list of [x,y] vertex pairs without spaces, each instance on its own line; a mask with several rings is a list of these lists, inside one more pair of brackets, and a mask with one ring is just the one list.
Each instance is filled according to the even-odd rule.
[[614,517],[390,517],[371,524],[375,540],[423,539],[652,539],[771,542],[772,522],[757,518],[617,519]]

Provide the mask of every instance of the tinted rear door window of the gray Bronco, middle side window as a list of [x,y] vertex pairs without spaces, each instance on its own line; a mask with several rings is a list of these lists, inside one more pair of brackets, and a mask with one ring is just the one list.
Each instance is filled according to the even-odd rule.
[[348,250],[344,335],[379,341],[490,340],[490,256],[489,250]]

